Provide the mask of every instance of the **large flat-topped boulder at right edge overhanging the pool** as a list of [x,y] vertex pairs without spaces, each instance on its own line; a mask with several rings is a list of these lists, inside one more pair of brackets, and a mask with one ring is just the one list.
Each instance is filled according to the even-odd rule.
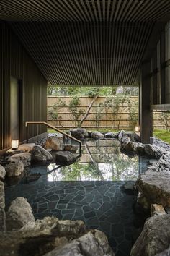
[[[170,171],[157,171],[156,169],[148,170],[138,176],[136,187],[147,204],[143,205],[150,208],[151,204],[170,206]],[[141,199],[141,198],[140,198]],[[139,202],[139,201],[138,201]],[[141,203],[141,200],[140,200]]]

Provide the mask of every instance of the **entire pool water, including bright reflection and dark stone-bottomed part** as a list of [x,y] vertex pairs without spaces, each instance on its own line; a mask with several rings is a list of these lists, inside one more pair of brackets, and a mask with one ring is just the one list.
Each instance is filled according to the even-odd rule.
[[148,160],[120,153],[117,140],[87,141],[81,157],[70,166],[32,166],[30,173],[41,174],[39,179],[6,186],[6,205],[22,196],[35,218],[82,220],[89,229],[104,231],[116,256],[127,256],[135,229],[135,195],[123,184],[146,171]]

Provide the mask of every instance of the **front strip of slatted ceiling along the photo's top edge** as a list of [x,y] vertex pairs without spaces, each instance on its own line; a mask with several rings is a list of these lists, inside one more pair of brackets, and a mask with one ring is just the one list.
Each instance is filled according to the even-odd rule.
[[151,21],[170,12],[169,0],[2,0],[6,21]]

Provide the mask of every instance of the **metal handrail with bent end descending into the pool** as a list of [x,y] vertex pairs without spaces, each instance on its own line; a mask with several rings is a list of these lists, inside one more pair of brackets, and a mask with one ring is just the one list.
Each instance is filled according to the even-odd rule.
[[80,154],[81,154],[81,141],[77,140],[76,138],[72,137],[71,135],[66,134],[66,132],[62,132],[60,129],[53,127],[53,125],[50,125],[46,123],[45,121],[26,121],[25,122],[25,127],[27,127],[27,142],[28,142],[28,124],[44,124],[46,127],[50,127],[51,129],[54,129],[56,132],[61,133],[62,135],[68,137],[71,140],[74,140],[79,143],[80,146]]

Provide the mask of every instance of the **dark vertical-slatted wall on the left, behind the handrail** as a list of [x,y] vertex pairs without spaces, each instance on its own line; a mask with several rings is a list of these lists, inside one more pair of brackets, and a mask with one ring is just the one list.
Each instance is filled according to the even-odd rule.
[[[25,121],[46,121],[47,80],[5,22],[0,22],[0,150],[11,146],[10,80],[19,81],[20,141],[26,139]],[[30,127],[29,137],[46,132]]]

